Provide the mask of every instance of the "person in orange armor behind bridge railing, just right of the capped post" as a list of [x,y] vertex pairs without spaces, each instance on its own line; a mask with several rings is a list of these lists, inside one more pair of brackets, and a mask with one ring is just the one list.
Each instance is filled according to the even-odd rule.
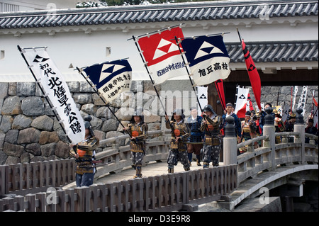
[[[242,121],[242,137],[241,142],[250,140],[255,137],[256,134],[256,124],[251,118],[250,111],[246,111],[245,120]],[[247,146],[240,148],[240,154],[247,152]]]

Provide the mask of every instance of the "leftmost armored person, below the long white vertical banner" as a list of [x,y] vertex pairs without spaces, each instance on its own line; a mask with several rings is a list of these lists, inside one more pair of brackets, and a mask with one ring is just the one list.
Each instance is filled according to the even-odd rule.
[[75,170],[75,179],[77,187],[90,186],[93,184],[94,174],[96,172],[95,149],[99,145],[99,139],[95,137],[92,130],[90,115],[84,118],[85,137],[82,142],[77,145],[70,145],[71,150],[69,154],[75,157],[77,169]]

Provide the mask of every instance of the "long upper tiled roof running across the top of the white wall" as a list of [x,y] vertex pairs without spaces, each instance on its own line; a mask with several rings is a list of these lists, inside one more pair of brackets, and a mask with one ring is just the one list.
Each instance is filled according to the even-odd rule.
[[84,26],[160,21],[201,21],[259,18],[267,9],[269,18],[318,16],[318,1],[203,1],[183,4],[113,6],[89,9],[0,13],[0,28]]

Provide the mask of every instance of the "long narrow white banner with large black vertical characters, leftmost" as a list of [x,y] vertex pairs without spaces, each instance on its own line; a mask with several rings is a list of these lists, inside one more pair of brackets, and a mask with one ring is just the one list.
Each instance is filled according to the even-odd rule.
[[44,95],[49,98],[53,110],[59,115],[60,123],[65,128],[69,140],[73,144],[84,140],[84,120],[74,103],[67,83],[45,48],[25,49],[23,55],[35,79],[42,86]]

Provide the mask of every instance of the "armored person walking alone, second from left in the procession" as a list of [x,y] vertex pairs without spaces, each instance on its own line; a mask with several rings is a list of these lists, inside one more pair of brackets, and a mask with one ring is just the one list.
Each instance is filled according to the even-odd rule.
[[142,163],[145,156],[145,140],[147,138],[147,124],[144,122],[142,111],[135,111],[131,123],[123,128],[130,134],[130,152],[132,167],[136,174],[134,178],[142,177]]

